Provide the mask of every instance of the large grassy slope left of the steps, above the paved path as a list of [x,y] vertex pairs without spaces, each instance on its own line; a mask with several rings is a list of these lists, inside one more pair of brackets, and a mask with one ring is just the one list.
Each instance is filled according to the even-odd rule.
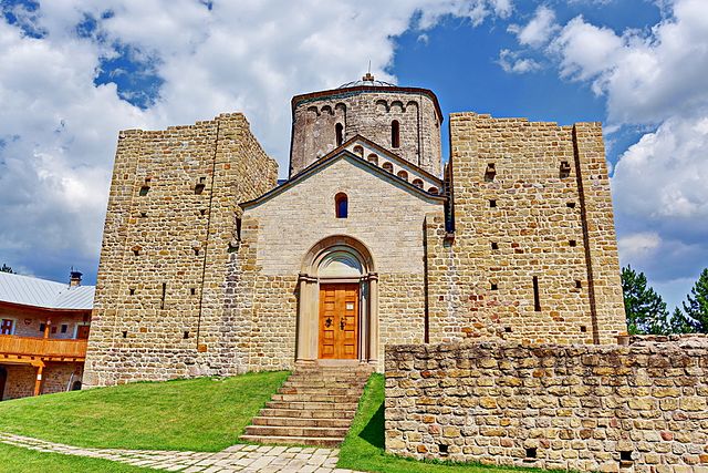
[[287,377],[140,382],[4,401],[0,431],[77,446],[216,452],[238,442]]

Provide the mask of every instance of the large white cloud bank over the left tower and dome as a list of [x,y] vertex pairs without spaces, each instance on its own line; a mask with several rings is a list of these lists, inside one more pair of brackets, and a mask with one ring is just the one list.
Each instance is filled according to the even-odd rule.
[[0,263],[97,264],[118,130],[246,113],[287,169],[290,97],[378,78],[394,38],[511,0],[0,3]]

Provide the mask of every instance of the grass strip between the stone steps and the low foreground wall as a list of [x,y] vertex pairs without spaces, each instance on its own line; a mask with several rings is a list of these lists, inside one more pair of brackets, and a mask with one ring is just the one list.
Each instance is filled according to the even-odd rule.
[[346,440],[340,451],[339,467],[384,473],[481,473],[533,472],[477,464],[418,462],[384,452],[384,377],[373,374],[366,384]]

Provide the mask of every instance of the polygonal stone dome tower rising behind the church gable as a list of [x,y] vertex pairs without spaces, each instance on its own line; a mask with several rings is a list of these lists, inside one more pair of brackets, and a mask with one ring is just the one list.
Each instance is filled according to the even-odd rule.
[[337,89],[292,99],[290,176],[361,135],[440,175],[442,114],[428,89],[399,88],[369,73]]

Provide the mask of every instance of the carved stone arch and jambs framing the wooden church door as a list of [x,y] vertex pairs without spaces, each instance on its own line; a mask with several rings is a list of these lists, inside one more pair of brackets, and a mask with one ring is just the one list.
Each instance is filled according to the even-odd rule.
[[358,284],[358,361],[378,361],[378,275],[362,241],[333,235],[305,254],[298,281],[298,361],[319,358],[320,282]]

